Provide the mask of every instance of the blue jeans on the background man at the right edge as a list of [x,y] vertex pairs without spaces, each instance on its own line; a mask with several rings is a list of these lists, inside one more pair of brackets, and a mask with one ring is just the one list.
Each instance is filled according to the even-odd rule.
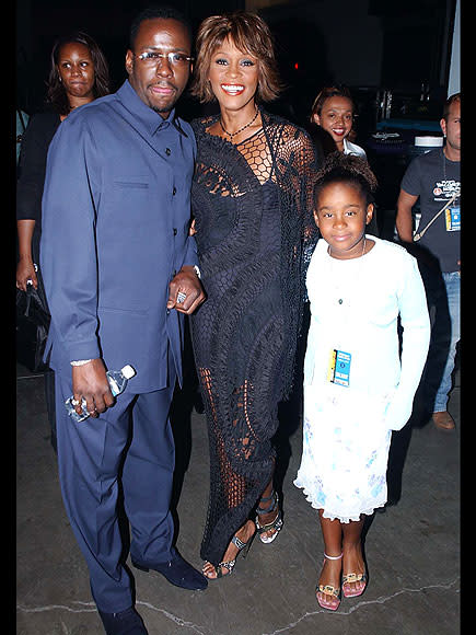
[[460,286],[458,272],[440,274],[441,284],[427,287],[428,309],[431,319],[431,340],[425,382],[428,405],[433,413],[446,409],[452,386],[452,372],[456,344],[460,340]]

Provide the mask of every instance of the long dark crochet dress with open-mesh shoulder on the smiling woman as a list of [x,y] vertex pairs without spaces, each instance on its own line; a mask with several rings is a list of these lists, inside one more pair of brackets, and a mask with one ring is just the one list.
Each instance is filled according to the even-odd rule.
[[217,565],[269,482],[279,401],[292,385],[304,269],[316,238],[306,132],[260,111],[242,143],[193,123],[193,212],[206,302],[191,318],[210,441],[200,555]]

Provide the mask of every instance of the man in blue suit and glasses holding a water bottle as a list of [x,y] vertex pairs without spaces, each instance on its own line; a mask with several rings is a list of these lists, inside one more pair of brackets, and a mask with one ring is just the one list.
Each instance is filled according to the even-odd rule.
[[[132,564],[186,589],[207,586],[172,545],[170,512],[169,409],[182,382],[183,320],[205,300],[188,232],[196,143],[174,111],[190,49],[178,13],[143,12],[131,27],[128,80],[71,113],[48,153],[40,251],[59,475],[111,635],[147,633],[120,561],[119,478]],[[106,370],[126,363],[137,374],[114,400]],[[67,415],[71,394],[78,412],[86,401],[91,417],[82,423]]]

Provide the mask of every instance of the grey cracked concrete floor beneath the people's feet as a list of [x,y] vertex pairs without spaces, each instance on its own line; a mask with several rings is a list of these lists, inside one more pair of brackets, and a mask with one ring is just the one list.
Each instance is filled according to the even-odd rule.
[[[65,515],[49,441],[43,376],[18,366],[16,634],[101,635],[85,564]],[[283,413],[278,475],[285,528],[255,541],[233,576],[204,592],[133,569],[137,609],[150,635],[455,635],[460,633],[460,388],[450,401],[455,432],[429,423],[395,435],[390,497],[369,523],[363,596],[336,613],[314,596],[323,543],[316,512],[292,485],[301,452],[293,406]],[[208,495],[205,415],[178,396],[177,547],[196,567]],[[4,631],[7,633],[7,631]],[[13,631],[8,631],[13,632]]]

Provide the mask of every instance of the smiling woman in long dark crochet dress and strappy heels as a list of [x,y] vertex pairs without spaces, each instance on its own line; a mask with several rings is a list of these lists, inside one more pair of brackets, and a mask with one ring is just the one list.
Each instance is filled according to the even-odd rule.
[[206,19],[197,51],[193,92],[220,105],[220,115],[193,123],[193,211],[207,301],[191,330],[211,472],[201,557],[213,579],[232,572],[256,531],[269,543],[282,527],[271,438],[293,378],[316,161],[304,130],[259,105],[280,88],[260,18]]

